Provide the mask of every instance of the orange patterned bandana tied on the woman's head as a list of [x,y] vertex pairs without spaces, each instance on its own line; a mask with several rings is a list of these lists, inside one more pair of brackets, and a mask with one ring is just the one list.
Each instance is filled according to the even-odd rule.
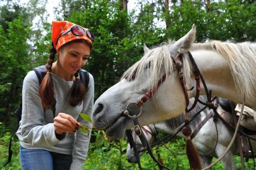
[[[79,35],[73,34],[72,27],[76,26],[76,28],[73,28],[75,30],[75,33],[78,33]],[[82,28],[82,29],[81,29]],[[84,30],[83,30],[84,29]],[[82,30],[82,32],[80,31]],[[61,46],[64,44],[73,41],[73,40],[86,40],[90,46],[93,46],[93,43],[91,39],[91,32],[88,32],[89,30],[87,28],[84,28],[79,25],[75,25],[75,23],[69,22],[69,21],[53,21],[52,22],[52,41],[53,46],[58,51]],[[80,35],[81,34],[81,35]]]

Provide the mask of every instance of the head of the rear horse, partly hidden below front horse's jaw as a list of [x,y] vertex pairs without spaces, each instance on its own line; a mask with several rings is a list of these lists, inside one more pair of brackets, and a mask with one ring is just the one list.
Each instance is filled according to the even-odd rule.
[[[154,130],[153,124],[148,124],[147,126],[143,126],[142,130],[144,132],[145,138],[148,141],[148,144],[152,144],[154,141],[154,137],[156,135],[156,130]],[[132,130],[132,136],[135,142],[135,147],[138,151],[138,156],[141,157],[143,153],[145,153],[145,148],[139,139],[139,136],[135,134],[134,130]],[[128,162],[130,163],[138,163],[138,159],[135,156],[133,148],[130,147],[130,144],[127,145],[126,157]]]

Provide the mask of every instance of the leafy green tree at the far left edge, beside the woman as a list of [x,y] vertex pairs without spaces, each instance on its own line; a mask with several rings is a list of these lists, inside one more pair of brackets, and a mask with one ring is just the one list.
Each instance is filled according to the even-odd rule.
[[0,108],[4,111],[1,115],[4,114],[5,123],[8,123],[10,112],[20,101],[19,88],[31,61],[27,43],[30,29],[25,25],[23,14],[20,13],[17,19],[7,24],[5,32],[0,25]]

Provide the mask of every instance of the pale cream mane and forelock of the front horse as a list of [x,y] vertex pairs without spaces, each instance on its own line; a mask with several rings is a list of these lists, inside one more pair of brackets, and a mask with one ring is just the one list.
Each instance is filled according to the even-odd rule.
[[[150,71],[150,87],[159,81],[160,76],[166,73],[173,76],[172,59],[169,47],[173,42],[162,43],[160,46],[149,50],[135,64],[126,70],[122,76],[128,81],[141,76],[145,67]],[[195,43],[190,50],[214,50],[220,53],[228,62],[237,90],[246,95],[246,99],[255,99],[256,96],[256,43],[228,43],[221,41],[211,41],[208,43]],[[192,71],[189,65],[189,58],[183,57],[183,75],[187,85],[192,81]],[[172,77],[171,77],[172,80]]]

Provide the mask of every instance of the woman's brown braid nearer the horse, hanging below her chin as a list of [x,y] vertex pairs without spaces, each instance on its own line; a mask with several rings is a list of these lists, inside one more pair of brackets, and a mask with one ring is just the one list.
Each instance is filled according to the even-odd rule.
[[85,85],[78,77],[79,70],[75,73],[76,80],[69,91],[69,104],[73,107],[81,105],[85,97]]

